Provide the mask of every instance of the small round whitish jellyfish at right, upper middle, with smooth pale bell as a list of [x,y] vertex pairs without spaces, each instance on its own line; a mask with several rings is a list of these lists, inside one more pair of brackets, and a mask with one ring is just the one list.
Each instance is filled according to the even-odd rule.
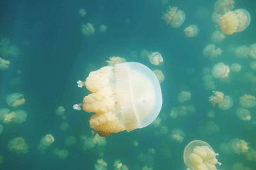
[[218,62],[212,67],[212,76],[214,78],[226,78],[229,74],[229,67],[223,62]]

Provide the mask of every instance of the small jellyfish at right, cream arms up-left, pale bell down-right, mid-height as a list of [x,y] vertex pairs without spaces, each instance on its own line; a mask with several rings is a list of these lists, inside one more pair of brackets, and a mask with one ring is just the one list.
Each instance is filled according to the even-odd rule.
[[214,96],[209,97],[212,106],[218,104],[221,110],[228,110],[233,106],[233,100],[230,96],[224,96],[223,92],[214,91]]

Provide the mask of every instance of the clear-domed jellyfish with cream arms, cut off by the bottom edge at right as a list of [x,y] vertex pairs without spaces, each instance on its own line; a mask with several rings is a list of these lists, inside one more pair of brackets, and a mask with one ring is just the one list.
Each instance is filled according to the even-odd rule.
[[208,143],[194,140],[184,149],[183,159],[190,170],[216,170],[217,155]]

